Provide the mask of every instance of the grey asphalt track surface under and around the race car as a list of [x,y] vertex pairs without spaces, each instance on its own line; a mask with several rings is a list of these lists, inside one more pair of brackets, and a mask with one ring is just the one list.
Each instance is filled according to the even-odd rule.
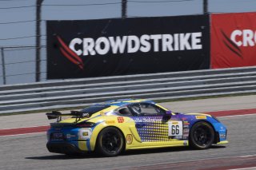
[[[255,96],[254,96],[255,97]],[[242,104],[242,98],[240,103]],[[232,101],[233,99],[230,99]],[[218,109],[222,105],[222,100]],[[196,103],[196,101],[194,101]],[[210,102],[209,100],[207,102]],[[211,101],[206,105],[213,105]],[[217,102],[217,101],[216,101]],[[252,102],[250,99],[249,103]],[[184,101],[185,103],[185,101]],[[194,104],[195,104],[194,103]],[[215,104],[214,104],[215,105]],[[187,105],[186,105],[187,106]],[[235,109],[255,108],[236,105]],[[182,107],[182,104],[181,104]],[[225,106],[227,107],[227,106]],[[198,112],[206,108],[198,107]],[[234,109],[230,105],[230,109]],[[228,110],[228,107],[227,109]],[[216,111],[208,109],[208,111]],[[195,112],[195,110],[193,111]],[[11,116],[14,117],[14,116]],[[29,120],[29,116],[27,121]],[[0,169],[232,169],[256,168],[256,113],[242,116],[219,117],[228,128],[229,144],[214,145],[207,150],[158,148],[130,151],[117,157],[93,154],[68,157],[50,153],[46,149],[46,133],[0,137]],[[13,119],[12,119],[13,120]],[[3,122],[1,120],[1,122]],[[7,120],[8,122],[8,120]],[[14,121],[15,123],[15,121]],[[3,125],[3,126],[2,126]],[[2,127],[6,127],[3,122]],[[15,125],[13,125],[15,128]]]

